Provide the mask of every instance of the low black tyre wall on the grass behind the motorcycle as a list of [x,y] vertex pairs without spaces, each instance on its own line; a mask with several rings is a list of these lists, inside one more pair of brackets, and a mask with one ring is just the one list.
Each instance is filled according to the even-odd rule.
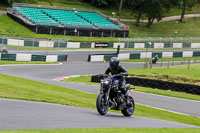
[[[99,83],[100,80],[101,80],[101,77],[97,75],[92,76],[91,78],[91,82]],[[178,91],[178,92],[185,92],[185,93],[200,95],[200,86],[198,85],[173,83],[173,82],[162,81],[162,80],[136,78],[136,77],[128,77],[126,78],[126,82],[135,86],[143,86],[143,87],[150,87],[150,88],[157,88],[157,89],[162,89],[162,90],[171,90],[171,91]]]

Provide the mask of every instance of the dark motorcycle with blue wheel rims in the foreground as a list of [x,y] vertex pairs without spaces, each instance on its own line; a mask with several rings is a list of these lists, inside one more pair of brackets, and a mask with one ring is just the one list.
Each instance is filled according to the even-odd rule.
[[124,90],[120,90],[119,75],[101,75],[100,93],[96,100],[96,108],[99,114],[105,115],[111,110],[121,111],[124,116],[131,116],[135,110],[134,99],[130,96],[130,84],[126,84]]

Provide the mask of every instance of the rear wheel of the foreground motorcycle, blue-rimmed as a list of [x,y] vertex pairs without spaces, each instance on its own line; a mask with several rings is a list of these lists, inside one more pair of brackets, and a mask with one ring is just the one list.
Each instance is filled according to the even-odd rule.
[[125,107],[121,112],[124,116],[126,117],[130,117],[131,115],[133,115],[134,113],[134,110],[135,110],[135,102],[133,100],[132,97],[128,97],[129,98],[129,102],[130,102],[130,105],[129,107]]

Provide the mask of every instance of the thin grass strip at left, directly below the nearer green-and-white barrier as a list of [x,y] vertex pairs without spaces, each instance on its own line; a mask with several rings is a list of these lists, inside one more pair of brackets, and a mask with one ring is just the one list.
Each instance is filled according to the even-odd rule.
[[41,61],[0,61],[0,65],[9,65],[9,64],[56,64],[55,62],[41,62]]

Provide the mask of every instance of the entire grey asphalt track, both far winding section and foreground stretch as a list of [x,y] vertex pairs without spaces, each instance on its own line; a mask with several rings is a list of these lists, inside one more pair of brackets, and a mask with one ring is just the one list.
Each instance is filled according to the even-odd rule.
[[[74,53],[75,54],[75,53]],[[79,55],[80,56],[80,55]],[[77,57],[78,58],[78,55]],[[143,63],[121,63],[126,69],[143,67]],[[54,79],[71,75],[103,73],[108,63],[69,61],[63,65],[0,66],[0,73],[98,94],[99,87],[60,82]],[[159,64],[158,64],[159,66]],[[132,92],[135,102],[164,110],[200,117],[200,102],[146,93]],[[63,105],[0,99],[0,129],[55,129],[85,127],[195,127],[150,118],[122,117],[121,114],[98,115],[96,110]],[[85,122],[87,121],[87,122]]]

